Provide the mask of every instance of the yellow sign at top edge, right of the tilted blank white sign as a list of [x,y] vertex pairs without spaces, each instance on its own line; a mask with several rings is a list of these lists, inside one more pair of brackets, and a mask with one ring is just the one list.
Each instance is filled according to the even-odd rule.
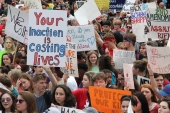
[[95,2],[99,9],[109,9],[110,0],[95,0]]

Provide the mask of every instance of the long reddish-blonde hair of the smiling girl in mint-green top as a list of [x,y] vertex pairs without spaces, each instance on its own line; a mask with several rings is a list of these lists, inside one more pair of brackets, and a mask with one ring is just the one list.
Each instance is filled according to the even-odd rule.
[[91,64],[91,62],[90,62],[90,60],[89,60],[89,58],[90,58],[90,56],[91,56],[92,54],[95,54],[95,55],[96,55],[96,57],[97,57],[96,65],[98,64],[98,55],[97,55],[97,52],[95,52],[95,51],[89,51],[89,52],[87,53],[87,60],[86,60],[86,64],[87,64],[87,66],[88,66],[88,71],[91,71],[91,68],[92,68],[92,64]]

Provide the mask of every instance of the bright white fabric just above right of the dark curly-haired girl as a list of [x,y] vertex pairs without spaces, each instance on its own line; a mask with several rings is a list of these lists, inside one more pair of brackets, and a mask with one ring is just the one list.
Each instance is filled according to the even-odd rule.
[[71,91],[78,89],[77,82],[74,76],[69,76],[67,79],[67,86],[71,89]]

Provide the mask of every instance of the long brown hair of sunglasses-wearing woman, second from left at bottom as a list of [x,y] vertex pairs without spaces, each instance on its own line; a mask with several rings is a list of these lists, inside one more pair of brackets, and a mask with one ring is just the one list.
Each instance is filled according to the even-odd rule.
[[[36,102],[31,92],[23,91],[23,92],[20,92],[19,95],[27,103],[27,113],[38,113],[37,108],[36,108]],[[17,110],[17,113],[22,113],[22,112]]]

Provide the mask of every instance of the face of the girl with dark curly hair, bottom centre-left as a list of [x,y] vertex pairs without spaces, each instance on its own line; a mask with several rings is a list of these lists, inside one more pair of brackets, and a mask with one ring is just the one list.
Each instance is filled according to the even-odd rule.
[[55,100],[58,104],[60,104],[61,106],[64,105],[64,101],[66,98],[66,94],[64,92],[64,90],[60,87],[58,87],[55,91]]

